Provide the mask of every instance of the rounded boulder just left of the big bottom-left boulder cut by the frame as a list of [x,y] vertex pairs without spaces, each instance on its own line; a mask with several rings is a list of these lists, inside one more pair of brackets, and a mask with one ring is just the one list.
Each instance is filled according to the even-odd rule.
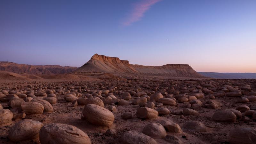
[[43,124],[39,121],[24,119],[11,127],[8,138],[15,142],[37,139],[41,127]]

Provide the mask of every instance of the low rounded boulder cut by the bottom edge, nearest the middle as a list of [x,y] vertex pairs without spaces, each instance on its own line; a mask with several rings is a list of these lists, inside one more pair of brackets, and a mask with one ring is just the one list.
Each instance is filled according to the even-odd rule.
[[156,140],[137,131],[125,132],[120,141],[123,144],[157,144]]

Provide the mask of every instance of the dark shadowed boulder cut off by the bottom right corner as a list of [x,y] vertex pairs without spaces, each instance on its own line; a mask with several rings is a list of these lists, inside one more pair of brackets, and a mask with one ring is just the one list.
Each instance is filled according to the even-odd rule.
[[231,144],[255,144],[256,128],[236,128],[229,132],[229,141]]

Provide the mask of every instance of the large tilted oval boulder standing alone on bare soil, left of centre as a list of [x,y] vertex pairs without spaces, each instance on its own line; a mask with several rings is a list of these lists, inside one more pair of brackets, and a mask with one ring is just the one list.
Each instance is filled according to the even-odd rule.
[[85,105],[83,115],[91,124],[98,126],[110,126],[115,119],[111,111],[95,104]]

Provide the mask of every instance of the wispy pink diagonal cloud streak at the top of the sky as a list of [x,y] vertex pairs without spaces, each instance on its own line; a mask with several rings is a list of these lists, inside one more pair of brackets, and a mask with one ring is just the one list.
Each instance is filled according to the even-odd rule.
[[133,5],[132,12],[125,18],[122,25],[129,26],[133,22],[139,21],[144,16],[144,13],[147,12],[152,5],[159,1],[161,0],[140,0],[139,2],[135,3]]

